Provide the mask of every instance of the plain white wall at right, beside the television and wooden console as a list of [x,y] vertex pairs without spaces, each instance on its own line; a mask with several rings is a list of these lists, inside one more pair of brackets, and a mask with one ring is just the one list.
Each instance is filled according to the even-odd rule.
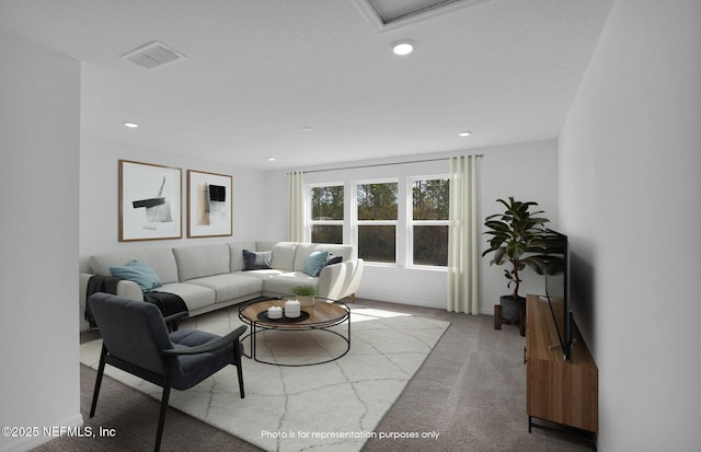
[[617,0],[560,137],[599,450],[701,443],[701,2]]

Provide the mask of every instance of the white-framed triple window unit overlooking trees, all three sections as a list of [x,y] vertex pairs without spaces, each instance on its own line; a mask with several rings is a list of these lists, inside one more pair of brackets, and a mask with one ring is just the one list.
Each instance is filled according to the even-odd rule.
[[447,166],[446,160],[310,173],[306,240],[355,245],[371,265],[446,270]]

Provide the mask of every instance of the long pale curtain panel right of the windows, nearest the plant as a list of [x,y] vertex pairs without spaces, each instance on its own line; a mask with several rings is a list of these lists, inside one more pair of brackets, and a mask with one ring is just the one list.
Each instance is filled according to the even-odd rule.
[[478,157],[450,158],[448,311],[479,314]]

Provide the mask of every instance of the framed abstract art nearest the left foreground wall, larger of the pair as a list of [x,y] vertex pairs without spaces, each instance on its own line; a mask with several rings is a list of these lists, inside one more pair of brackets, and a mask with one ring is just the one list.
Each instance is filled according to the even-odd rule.
[[119,242],[182,239],[182,174],[119,160]]

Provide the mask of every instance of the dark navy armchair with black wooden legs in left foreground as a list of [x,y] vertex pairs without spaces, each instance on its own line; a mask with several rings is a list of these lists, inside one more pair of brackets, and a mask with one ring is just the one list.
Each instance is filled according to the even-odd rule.
[[226,336],[196,329],[170,333],[166,323],[183,317],[185,313],[163,318],[154,304],[103,292],[92,294],[88,303],[103,340],[90,417],[95,415],[105,364],[163,389],[156,433],[157,452],[161,445],[171,389],[188,390],[226,366],[233,364],[238,371],[241,398],[245,396],[240,337],[246,326],[240,326]]

